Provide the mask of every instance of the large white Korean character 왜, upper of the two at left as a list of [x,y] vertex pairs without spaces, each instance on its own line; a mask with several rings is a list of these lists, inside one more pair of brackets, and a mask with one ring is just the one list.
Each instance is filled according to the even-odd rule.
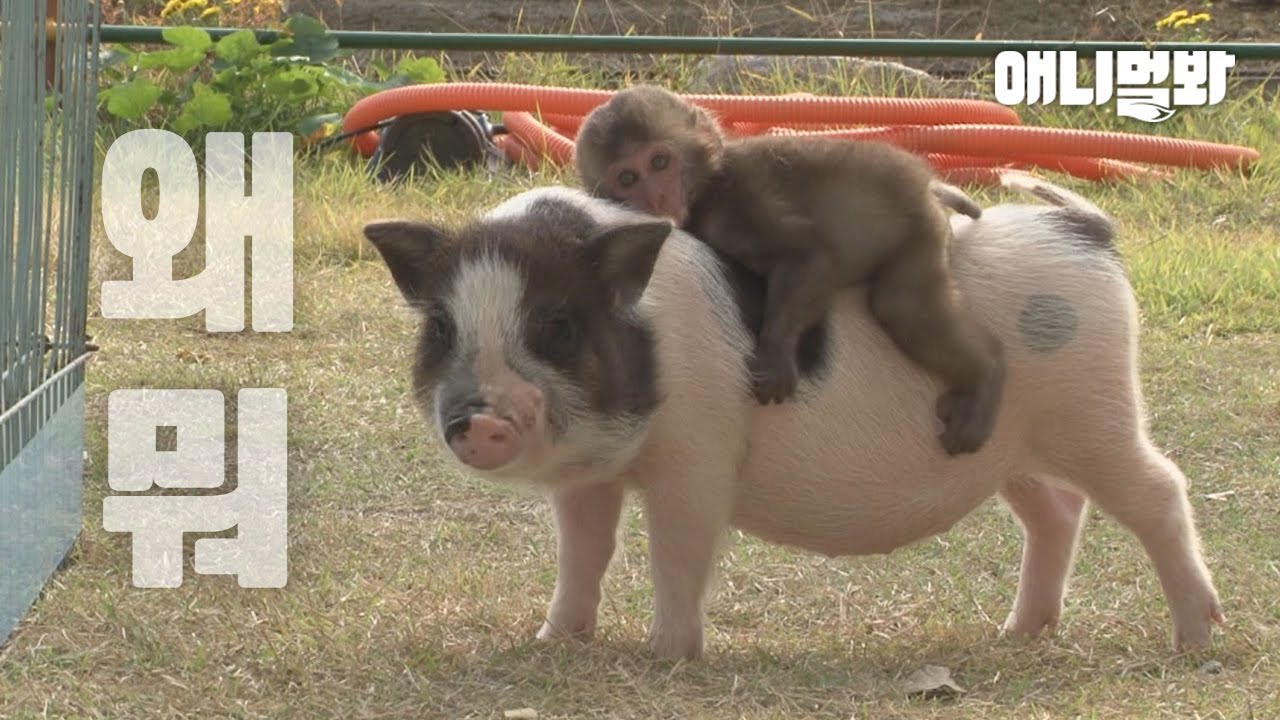
[[[174,279],[174,256],[195,236],[200,178],[187,142],[163,129],[138,129],[111,143],[102,164],[102,225],[133,259],[127,281],[102,282],[102,316],[175,319],[205,311],[209,332],[244,329],[244,238],[252,237],[253,329],[293,328],[293,136],[253,133],[252,191],[246,192],[244,136],[211,132],[205,158],[205,266]],[[159,184],[152,217],[140,187]]]

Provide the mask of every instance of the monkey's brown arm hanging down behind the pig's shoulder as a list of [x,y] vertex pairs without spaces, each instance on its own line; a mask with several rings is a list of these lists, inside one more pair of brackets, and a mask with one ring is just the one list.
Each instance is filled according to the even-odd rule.
[[762,404],[782,402],[795,393],[800,334],[831,307],[837,284],[833,266],[827,254],[806,252],[769,270],[764,322],[750,361],[755,397]]

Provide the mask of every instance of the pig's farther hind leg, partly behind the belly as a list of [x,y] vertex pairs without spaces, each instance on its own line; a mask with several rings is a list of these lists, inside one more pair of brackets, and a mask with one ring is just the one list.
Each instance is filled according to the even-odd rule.
[[1001,488],[1000,497],[1023,528],[1018,598],[1005,620],[1005,632],[1039,635],[1052,630],[1062,614],[1084,519],[1084,496],[1028,477]]

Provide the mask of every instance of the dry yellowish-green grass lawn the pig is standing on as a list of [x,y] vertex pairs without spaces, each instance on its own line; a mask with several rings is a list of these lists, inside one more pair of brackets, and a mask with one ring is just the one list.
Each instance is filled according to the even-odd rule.
[[[541,69],[547,82],[576,81]],[[1172,655],[1146,556],[1097,511],[1057,634],[1001,638],[1021,539],[995,501],[891,556],[824,559],[735,534],[709,602],[707,657],[691,664],[645,652],[650,584],[631,507],[596,641],[535,644],[556,569],[549,512],[529,492],[458,473],[429,439],[408,400],[412,318],[360,227],[388,215],[461,220],[573,179],[442,173],[387,188],[329,155],[297,165],[287,334],[206,333],[202,316],[104,320],[99,286],[127,277],[128,263],[99,223],[90,332],[102,350],[88,365],[84,525],[0,650],[0,717],[502,717],[524,707],[539,717],[1280,717],[1280,105],[1245,88],[1228,97],[1155,128],[1091,110],[1023,113],[1262,152],[1249,179],[1181,172],[1108,187],[1055,176],[1119,225],[1143,310],[1152,430],[1189,477],[1228,615],[1211,651]],[[198,268],[198,256],[186,264]],[[288,587],[196,575],[189,537],[180,588],[132,587],[129,537],[101,523],[105,407],[111,389],[141,387],[289,391]],[[1203,671],[1210,661],[1219,673]],[[925,664],[950,667],[968,692],[905,697],[901,680]]]

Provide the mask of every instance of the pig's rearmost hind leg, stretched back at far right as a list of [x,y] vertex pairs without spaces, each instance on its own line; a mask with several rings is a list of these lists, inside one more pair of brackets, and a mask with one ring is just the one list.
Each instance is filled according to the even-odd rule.
[[1064,478],[1138,536],[1174,616],[1174,647],[1208,646],[1213,623],[1224,620],[1222,606],[1201,556],[1187,478],[1142,434],[1087,447]]

